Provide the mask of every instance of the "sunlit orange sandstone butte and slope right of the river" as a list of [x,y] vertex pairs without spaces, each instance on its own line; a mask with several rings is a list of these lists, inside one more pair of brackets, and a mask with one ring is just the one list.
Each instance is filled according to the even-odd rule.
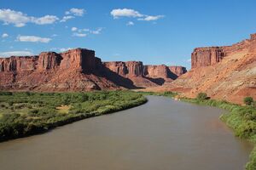
[[177,91],[195,98],[205,92],[212,99],[241,104],[244,97],[256,99],[256,34],[231,46],[195,48],[191,70],[175,81],[148,91]]

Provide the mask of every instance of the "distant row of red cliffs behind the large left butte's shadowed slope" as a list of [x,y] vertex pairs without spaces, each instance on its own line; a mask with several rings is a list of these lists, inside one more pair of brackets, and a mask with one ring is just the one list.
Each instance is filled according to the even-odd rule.
[[182,66],[143,65],[141,61],[112,61],[103,65],[120,77],[129,78],[133,85],[143,88],[172,82],[186,72]]

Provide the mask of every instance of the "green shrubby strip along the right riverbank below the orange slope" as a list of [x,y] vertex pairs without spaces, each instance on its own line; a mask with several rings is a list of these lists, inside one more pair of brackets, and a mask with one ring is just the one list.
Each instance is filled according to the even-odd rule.
[[[145,94],[162,95],[171,98],[175,98],[177,95],[177,93],[172,92]],[[228,113],[222,114],[219,118],[234,130],[237,137],[247,139],[254,144],[254,148],[250,154],[250,161],[247,162],[246,169],[256,169],[256,109],[253,108],[253,106],[236,105],[224,100],[219,101],[215,99],[181,98],[180,100],[197,105],[218,107],[225,111],[229,111]]]

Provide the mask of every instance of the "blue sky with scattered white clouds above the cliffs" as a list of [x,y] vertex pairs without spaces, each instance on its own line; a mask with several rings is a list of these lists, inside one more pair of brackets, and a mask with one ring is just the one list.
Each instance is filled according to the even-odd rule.
[[196,47],[256,32],[255,0],[1,0],[0,54],[90,48],[102,60],[190,67]]

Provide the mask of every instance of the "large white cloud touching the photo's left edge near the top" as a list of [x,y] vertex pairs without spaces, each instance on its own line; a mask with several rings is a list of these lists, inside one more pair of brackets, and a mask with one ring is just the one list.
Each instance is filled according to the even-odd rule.
[[9,8],[0,9],[0,20],[3,21],[3,25],[13,24],[16,27],[26,26],[26,23],[35,23],[38,25],[53,24],[56,20],[59,20],[55,15],[45,15],[43,17],[27,16],[20,11],[11,10]]

